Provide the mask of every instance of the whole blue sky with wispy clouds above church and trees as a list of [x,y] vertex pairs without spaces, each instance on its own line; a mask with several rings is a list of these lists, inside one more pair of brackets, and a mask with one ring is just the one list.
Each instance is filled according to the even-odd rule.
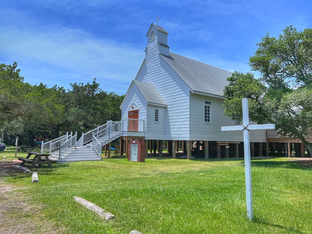
[[[125,94],[143,62],[157,16],[170,51],[227,71],[250,71],[269,32],[312,27],[311,1],[2,0],[0,63],[17,62],[32,85],[92,82]],[[257,75],[257,74],[256,74]]]

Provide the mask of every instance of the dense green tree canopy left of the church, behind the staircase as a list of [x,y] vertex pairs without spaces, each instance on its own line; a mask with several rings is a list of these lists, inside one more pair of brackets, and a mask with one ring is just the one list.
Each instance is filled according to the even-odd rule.
[[92,83],[73,83],[71,89],[31,85],[19,75],[17,63],[0,64],[0,131],[28,144],[37,135],[57,138],[65,132],[87,132],[106,120],[120,120],[124,95],[107,93]]

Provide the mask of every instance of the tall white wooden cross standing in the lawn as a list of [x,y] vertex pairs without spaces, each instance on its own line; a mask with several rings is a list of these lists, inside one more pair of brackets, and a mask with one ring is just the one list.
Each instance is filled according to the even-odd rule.
[[244,133],[244,158],[245,158],[245,185],[246,185],[247,217],[250,220],[253,220],[249,130],[275,129],[275,124],[249,125],[248,98],[243,98],[242,104],[243,104],[243,126],[221,127],[221,131],[243,130],[243,133]]

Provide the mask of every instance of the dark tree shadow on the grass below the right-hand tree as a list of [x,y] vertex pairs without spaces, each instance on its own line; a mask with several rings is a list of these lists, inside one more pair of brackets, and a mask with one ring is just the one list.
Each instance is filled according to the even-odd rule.
[[[304,161],[265,161],[264,159],[252,159],[251,167],[266,167],[266,168],[290,168],[290,169],[301,169],[301,170],[312,170],[311,167],[307,167]],[[241,166],[245,163],[241,162]]]

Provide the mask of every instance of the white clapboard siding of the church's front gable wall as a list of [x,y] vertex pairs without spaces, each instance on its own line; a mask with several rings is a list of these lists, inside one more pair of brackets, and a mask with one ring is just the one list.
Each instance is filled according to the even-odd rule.
[[152,60],[146,59],[146,67],[149,72],[138,74],[136,80],[153,84],[168,105],[164,116],[165,134],[163,129],[159,132],[150,131],[149,124],[154,119],[154,109],[150,109],[152,119],[147,120],[146,139],[155,139],[155,136],[162,136],[161,139],[167,140],[187,139],[190,93],[188,86],[158,54],[153,56]]

